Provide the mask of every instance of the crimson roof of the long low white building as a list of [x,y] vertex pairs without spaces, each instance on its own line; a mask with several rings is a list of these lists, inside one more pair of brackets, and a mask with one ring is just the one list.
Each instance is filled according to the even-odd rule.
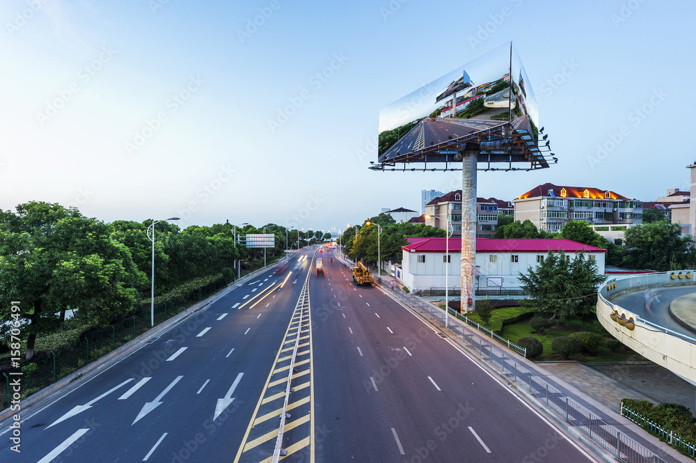
[[[446,238],[406,238],[409,242],[401,249],[409,252],[445,252],[447,250]],[[461,252],[461,238],[450,238],[450,252]],[[517,240],[497,240],[494,238],[476,238],[477,253],[546,253],[548,251],[578,252],[585,251],[591,253],[606,253],[606,249],[596,248],[589,244],[578,243],[576,241],[565,240],[564,238],[542,238],[536,239],[517,239]]]

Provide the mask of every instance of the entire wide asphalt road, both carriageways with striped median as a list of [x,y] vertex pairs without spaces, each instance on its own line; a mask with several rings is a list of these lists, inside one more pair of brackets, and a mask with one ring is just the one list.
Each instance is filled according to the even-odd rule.
[[0,461],[269,461],[291,370],[287,461],[594,461],[328,249],[315,275],[313,252],[31,410],[22,453],[1,446]]

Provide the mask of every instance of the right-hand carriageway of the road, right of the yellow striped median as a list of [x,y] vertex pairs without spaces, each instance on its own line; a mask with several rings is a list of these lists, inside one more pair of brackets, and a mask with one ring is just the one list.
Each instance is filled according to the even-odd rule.
[[326,268],[310,284],[317,461],[593,461],[393,299]]

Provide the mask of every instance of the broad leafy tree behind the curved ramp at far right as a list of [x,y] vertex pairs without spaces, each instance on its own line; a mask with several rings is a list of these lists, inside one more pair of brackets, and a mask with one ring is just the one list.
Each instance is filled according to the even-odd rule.
[[691,237],[682,236],[677,223],[656,221],[633,226],[624,232],[624,244],[624,267],[666,272],[694,265]]

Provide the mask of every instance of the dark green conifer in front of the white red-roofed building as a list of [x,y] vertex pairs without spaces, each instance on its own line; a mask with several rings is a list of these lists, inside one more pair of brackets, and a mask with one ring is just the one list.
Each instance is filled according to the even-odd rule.
[[522,288],[530,295],[524,301],[540,315],[562,319],[586,319],[596,306],[596,291],[606,276],[599,274],[596,262],[578,253],[572,261],[563,251],[548,251],[544,262],[528,275],[520,274]]

